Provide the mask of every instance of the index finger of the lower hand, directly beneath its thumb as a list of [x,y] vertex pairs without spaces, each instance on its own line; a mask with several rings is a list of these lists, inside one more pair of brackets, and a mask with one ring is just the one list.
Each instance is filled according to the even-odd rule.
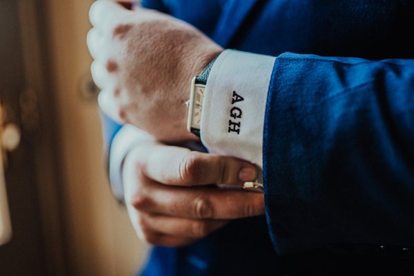
[[264,195],[220,188],[177,188],[158,184],[135,193],[136,210],[187,219],[239,219],[264,214]]

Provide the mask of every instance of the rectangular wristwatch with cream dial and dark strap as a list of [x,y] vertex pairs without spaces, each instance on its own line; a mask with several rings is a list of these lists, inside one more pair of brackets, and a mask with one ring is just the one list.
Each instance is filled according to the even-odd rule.
[[217,57],[210,61],[200,75],[193,77],[191,80],[190,99],[186,102],[188,106],[187,130],[193,132],[198,137],[200,137],[204,92],[206,91],[208,75],[216,59]]

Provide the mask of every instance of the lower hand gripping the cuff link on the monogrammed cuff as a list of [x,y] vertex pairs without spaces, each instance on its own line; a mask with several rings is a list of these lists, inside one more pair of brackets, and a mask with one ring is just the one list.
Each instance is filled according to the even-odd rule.
[[240,159],[148,141],[127,155],[123,176],[132,225],[150,244],[185,246],[230,219],[264,214],[263,194],[212,185],[255,179]]

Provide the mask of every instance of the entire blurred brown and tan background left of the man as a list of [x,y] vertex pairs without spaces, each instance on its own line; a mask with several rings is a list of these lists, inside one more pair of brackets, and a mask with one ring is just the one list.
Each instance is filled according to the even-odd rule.
[[91,3],[0,0],[0,275],[132,275],[145,255],[106,178]]

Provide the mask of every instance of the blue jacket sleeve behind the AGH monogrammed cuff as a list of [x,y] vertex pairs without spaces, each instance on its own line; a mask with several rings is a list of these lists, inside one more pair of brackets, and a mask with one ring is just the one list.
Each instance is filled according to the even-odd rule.
[[277,252],[414,245],[414,60],[285,53],[266,104],[266,217]]

